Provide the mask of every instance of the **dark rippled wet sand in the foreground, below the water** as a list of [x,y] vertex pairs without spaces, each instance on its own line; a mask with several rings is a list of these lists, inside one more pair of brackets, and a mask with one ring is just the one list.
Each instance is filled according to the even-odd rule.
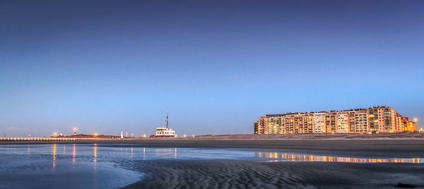
[[392,188],[398,183],[424,186],[424,166],[420,164],[153,160],[134,161],[132,166],[147,176],[126,188]]

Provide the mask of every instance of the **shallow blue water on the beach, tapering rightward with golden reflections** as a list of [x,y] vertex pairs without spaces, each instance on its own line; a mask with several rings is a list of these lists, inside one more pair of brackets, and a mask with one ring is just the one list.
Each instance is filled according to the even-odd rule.
[[0,188],[120,188],[146,173],[129,162],[155,159],[417,163],[424,159],[318,156],[247,149],[144,148],[119,144],[22,144],[0,146]]

